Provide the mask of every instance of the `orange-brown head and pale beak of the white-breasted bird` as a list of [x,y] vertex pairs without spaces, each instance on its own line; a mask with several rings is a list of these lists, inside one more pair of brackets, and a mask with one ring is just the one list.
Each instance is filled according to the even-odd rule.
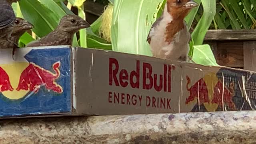
[[192,8],[198,6],[194,0],[167,0],[166,4],[173,19],[184,19]]

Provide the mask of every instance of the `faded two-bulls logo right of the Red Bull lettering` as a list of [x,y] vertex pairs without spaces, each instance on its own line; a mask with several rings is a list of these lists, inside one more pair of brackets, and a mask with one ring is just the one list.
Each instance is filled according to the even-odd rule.
[[224,109],[224,104],[231,109],[235,108],[235,104],[232,102],[234,83],[230,83],[230,88],[227,88],[215,73],[205,75],[190,87],[188,85],[191,80],[188,76],[186,76],[186,80],[186,88],[189,92],[186,104],[197,100],[198,105],[204,104],[208,111],[215,111],[218,106]]

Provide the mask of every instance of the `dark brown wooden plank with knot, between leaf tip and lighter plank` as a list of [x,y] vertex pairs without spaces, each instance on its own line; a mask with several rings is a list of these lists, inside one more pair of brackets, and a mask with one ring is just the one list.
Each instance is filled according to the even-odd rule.
[[244,42],[243,41],[205,41],[213,50],[216,61],[221,66],[242,68],[244,66]]

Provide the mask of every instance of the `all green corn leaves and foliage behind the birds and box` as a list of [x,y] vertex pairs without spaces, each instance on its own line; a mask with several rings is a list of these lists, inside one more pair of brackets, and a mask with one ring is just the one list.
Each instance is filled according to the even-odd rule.
[[[209,45],[209,29],[254,29],[256,0],[195,0],[200,6],[186,17],[192,40],[190,56],[202,65],[218,66]],[[13,4],[17,17],[35,28],[20,38],[20,46],[45,36],[65,14],[86,19],[91,27],[80,30],[73,46],[152,56],[146,37],[162,14],[166,0],[20,0]]]

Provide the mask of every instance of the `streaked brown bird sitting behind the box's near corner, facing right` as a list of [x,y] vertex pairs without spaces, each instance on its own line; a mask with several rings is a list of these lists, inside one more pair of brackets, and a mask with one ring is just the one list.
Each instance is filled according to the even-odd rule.
[[72,45],[73,36],[82,28],[88,28],[90,24],[76,15],[68,14],[60,20],[57,28],[40,40],[30,42],[26,47]]

